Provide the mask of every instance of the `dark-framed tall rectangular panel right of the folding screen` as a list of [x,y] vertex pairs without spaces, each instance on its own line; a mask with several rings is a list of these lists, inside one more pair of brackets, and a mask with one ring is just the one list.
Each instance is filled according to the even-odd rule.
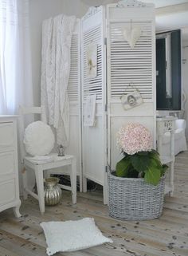
[[181,110],[181,62],[181,30],[157,33],[157,110]]

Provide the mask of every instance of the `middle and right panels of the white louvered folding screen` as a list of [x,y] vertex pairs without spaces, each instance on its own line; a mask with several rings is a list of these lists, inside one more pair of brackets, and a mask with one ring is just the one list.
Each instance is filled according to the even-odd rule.
[[[134,28],[141,32],[131,47],[123,33]],[[120,1],[107,8],[91,7],[82,18],[81,30],[84,191],[86,179],[101,184],[107,203],[107,166],[114,169],[121,157],[116,148],[119,127],[128,122],[143,124],[150,129],[155,148],[155,8],[135,0]],[[97,75],[92,79],[87,75],[90,43],[97,45]],[[124,110],[120,96],[134,89],[139,90],[143,104]],[[86,100],[93,94],[96,94],[96,125],[89,127],[84,126],[84,113]]]

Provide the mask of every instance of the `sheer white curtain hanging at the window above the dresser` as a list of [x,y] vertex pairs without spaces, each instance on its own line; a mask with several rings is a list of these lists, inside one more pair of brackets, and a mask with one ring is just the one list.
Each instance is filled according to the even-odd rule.
[[29,0],[0,1],[0,114],[33,105]]

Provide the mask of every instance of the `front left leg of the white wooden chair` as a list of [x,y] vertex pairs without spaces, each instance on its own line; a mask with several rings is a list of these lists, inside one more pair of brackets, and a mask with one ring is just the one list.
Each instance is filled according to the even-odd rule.
[[41,214],[45,213],[45,193],[44,193],[43,171],[44,170],[40,166],[37,166],[34,170],[36,183],[37,183],[38,203],[39,203]]

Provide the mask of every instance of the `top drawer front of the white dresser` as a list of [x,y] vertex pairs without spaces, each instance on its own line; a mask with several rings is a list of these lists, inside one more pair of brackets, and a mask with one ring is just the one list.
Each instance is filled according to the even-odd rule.
[[0,124],[0,148],[14,147],[13,123]]

